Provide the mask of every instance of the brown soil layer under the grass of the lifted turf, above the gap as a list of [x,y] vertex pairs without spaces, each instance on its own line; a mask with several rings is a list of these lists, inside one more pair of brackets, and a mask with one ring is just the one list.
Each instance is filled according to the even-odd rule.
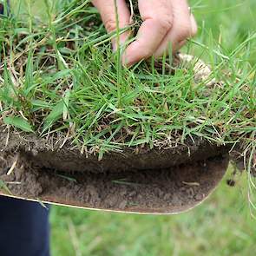
[[0,150],[3,152],[20,154],[37,167],[65,172],[105,173],[176,167],[226,154],[229,150],[228,147],[194,138],[194,141],[189,139],[175,148],[124,148],[121,153],[104,154],[102,161],[99,161],[96,154],[81,154],[69,143],[61,146],[62,138],[46,140],[23,133],[0,133]]

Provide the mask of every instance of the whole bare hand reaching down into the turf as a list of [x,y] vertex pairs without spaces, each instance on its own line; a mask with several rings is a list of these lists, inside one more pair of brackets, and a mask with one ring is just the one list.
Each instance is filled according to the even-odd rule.
[[[115,0],[93,0],[99,10],[102,22],[110,33],[116,30]],[[116,0],[119,27],[125,28],[132,21],[130,10],[125,0]],[[170,45],[173,51],[180,49],[197,32],[194,16],[191,14],[187,0],[138,0],[143,23],[134,42],[130,43],[122,55],[122,63],[131,66],[150,56],[159,58],[167,54]],[[120,36],[124,44],[129,32]],[[116,49],[116,38],[113,49]]]

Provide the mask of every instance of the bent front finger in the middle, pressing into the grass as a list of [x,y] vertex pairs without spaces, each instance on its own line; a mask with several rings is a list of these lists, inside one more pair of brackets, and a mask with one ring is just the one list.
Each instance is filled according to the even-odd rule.
[[173,25],[170,0],[139,0],[139,9],[143,23],[122,57],[128,66],[152,56]]

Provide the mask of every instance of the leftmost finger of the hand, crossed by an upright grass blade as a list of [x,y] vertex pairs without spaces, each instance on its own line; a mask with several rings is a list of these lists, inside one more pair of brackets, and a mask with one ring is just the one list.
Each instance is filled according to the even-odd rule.
[[[115,19],[115,0],[93,0],[92,3],[99,10],[102,16],[102,22],[105,25],[108,33],[116,30],[116,19]],[[125,28],[130,23],[130,12],[125,0],[116,0],[117,12],[119,17],[120,29]],[[122,33],[120,35],[120,43],[124,44],[129,36],[129,32]],[[117,48],[116,38],[113,39],[113,49]]]

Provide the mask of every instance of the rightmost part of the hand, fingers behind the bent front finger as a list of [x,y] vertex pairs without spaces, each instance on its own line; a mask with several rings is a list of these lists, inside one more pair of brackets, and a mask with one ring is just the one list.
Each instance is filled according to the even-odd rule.
[[187,1],[172,0],[174,23],[172,30],[156,49],[154,56],[156,58],[168,54],[170,45],[173,52],[180,49],[187,41],[187,38],[195,36],[197,32],[197,25],[194,16],[190,13]]

